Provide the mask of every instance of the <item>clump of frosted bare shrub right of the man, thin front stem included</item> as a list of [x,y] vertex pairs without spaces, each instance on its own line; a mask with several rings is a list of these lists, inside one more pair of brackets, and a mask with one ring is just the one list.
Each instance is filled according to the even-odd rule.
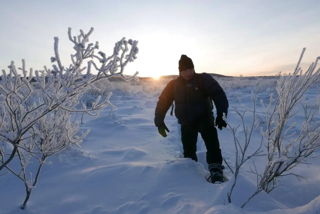
[[[303,49],[297,67],[292,74],[281,75],[277,78],[276,93],[270,94],[268,104],[265,105],[264,101],[262,99],[260,100],[265,111],[265,119],[260,123],[260,125],[263,123],[265,124],[261,125],[260,130],[262,140],[261,145],[264,145],[266,149],[266,155],[263,156],[267,157],[267,164],[262,173],[258,173],[257,168],[254,170],[251,169],[252,173],[257,176],[257,190],[249,197],[241,208],[261,191],[270,193],[278,186],[279,178],[289,175],[294,175],[297,178],[304,178],[301,175],[293,173],[292,168],[300,163],[308,163],[310,158],[315,157],[312,156],[313,153],[320,148],[320,122],[313,120],[316,112],[308,111],[306,103],[302,103],[303,96],[307,91],[318,87],[320,68],[316,70],[316,66],[320,57],[316,58],[315,62],[310,65],[305,73],[302,73],[299,65],[304,52],[305,48]],[[300,103],[304,106],[303,115],[305,120],[301,124],[300,133],[296,133],[296,131],[292,131],[292,127],[296,125],[296,120],[293,120],[294,122],[290,123],[290,119],[297,114],[296,107]],[[317,106],[320,107],[320,95],[318,95],[317,98]],[[254,108],[251,111],[253,112],[254,117],[252,123],[253,127],[256,116],[260,120],[263,119],[255,113]],[[243,120],[243,117],[241,118]],[[244,123],[243,128],[245,135],[244,146],[241,146],[241,142],[237,139],[235,131],[233,131],[237,151],[234,184],[236,183],[236,176],[239,168],[244,161],[250,157],[244,156],[244,152],[250,142],[250,135],[248,135],[248,128]],[[234,128],[231,130],[234,130]],[[260,150],[260,147],[257,151]],[[238,155],[238,151],[241,151],[240,155]],[[230,199],[232,188],[230,193],[228,193],[228,199]],[[229,202],[231,202],[231,199]]]

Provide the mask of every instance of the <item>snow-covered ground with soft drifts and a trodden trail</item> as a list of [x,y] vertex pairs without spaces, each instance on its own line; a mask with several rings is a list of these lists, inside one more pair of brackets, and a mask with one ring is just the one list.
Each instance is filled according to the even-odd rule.
[[[252,83],[253,81],[246,80],[242,85],[227,80],[221,83],[229,98],[228,122],[231,126],[238,126],[241,122],[233,106],[240,111],[244,110],[242,103],[252,108],[250,89],[259,89],[259,98],[268,101],[267,96],[271,89],[262,83],[270,86],[272,80],[260,80],[259,87],[254,86],[257,85],[257,81],[254,81]],[[154,110],[164,83],[155,83],[156,89],[150,91],[147,86],[140,90],[141,85],[134,89],[130,83],[112,84],[121,84],[121,87],[129,85],[130,90],[124,93],[114,89],[110,100],[118,108],[111,113],[111,107],[107,107],[100,111],[97,118],[84,115],[81,130],[91,131],[82,143],[83,148],[79,150],[73,147],[50,157],[49,161],[52,163],[43,167],[27,209],[20,209],[25,199],[24,184],[11,173],[0,177],[1,214],[320,212],[319,160],[311,160],[313,164],[309,166],[300,164],[292,170],[307,177],[309,183],[303,179],[299,181],[294,176],[286,176],[281,179],[282,186],[270,194],[261,192],[240,209],[257,186],[255,175],[247,171],[253,160],[258,172],[264,170],[265,157],[257,157],[244,164],[231,196],[232,203],[228,204],[227,192],[233,182],[232,173],[226,167],[225,174],[230,179],[228,182],[214,185],[206,182],[206,149],[201,136],[198,137],[199,162],[196,163],[179,157],[182,153],[180,127],[176,118],[170,116],[171,109],[165,119],[170,129],[168,137],[162,138],[158,134],[153,122]],[[253,85],[244,87],[245,84]],[[306,98],[310,105],[316,108],[316,118],[319,119],[317,94],[317,90],[311,88]],[[297,125],[293,131],[299,132],[304,116],[302,107],[298,107],[299,112],[293,118]],[[256,110],[264,119],[260,103],[257,103]],[[247,113],[245,118],[250,125],[252,114]],[[76,119],[81,120],[81,117],[77,115]],[[233,136],[226,129],[218,130],[218,134],[223,157],[232,166],[236,158]],[[241,130],[238,136],[241,139]],[[260,133],[257,129],[254,131],[248,154],[259,147],[259,144]],[[32,165],[29,167],[29,170],[36,170],[36,167],[32,169]]]

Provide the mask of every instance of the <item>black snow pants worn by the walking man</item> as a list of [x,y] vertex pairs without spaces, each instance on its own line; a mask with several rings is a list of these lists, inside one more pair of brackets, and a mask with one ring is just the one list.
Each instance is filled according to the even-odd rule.
[[205,147],[207,148],[207,163],[222,164],[222,155],[218,139],[218,132],[216,127],[214,126],[213,115],[207,115],[203,118],[199,118],[193,123],[181,125],[181,141],[183,145],[184,158],[191,158],[196,162],[198,161],[196,155],[198,133],[201,134],[201,137],[204,140]]

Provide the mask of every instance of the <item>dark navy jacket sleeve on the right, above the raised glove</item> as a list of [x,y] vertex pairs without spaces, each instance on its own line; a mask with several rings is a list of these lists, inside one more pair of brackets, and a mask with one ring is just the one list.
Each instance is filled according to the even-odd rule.
[[217,109],[217,115],[228,114],[229,102],[220,84],[209,74],[202,74],[204,90],[211,97]]

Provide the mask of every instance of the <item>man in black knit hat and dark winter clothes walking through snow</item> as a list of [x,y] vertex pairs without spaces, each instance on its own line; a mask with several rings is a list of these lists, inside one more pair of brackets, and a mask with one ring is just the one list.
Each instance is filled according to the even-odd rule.
[[[169,129],[164,117],[175,102],[175,116],[181,125],[181,141],[184,158],[198,161],[196,143],[201,134],[207,148],[206,161],[209,165],[211,182],[224,182],[222,155],[215,126],[220,130],[227,127],[223,113],[228,114],[228,99],[219,83],[209,74],[196,74],[192,59],[181,55],[179,77],[171,80],[159,96],[155,109],[155,125],[159,133],[166,137]],[[217,109],[214,121],[212,100]]]

